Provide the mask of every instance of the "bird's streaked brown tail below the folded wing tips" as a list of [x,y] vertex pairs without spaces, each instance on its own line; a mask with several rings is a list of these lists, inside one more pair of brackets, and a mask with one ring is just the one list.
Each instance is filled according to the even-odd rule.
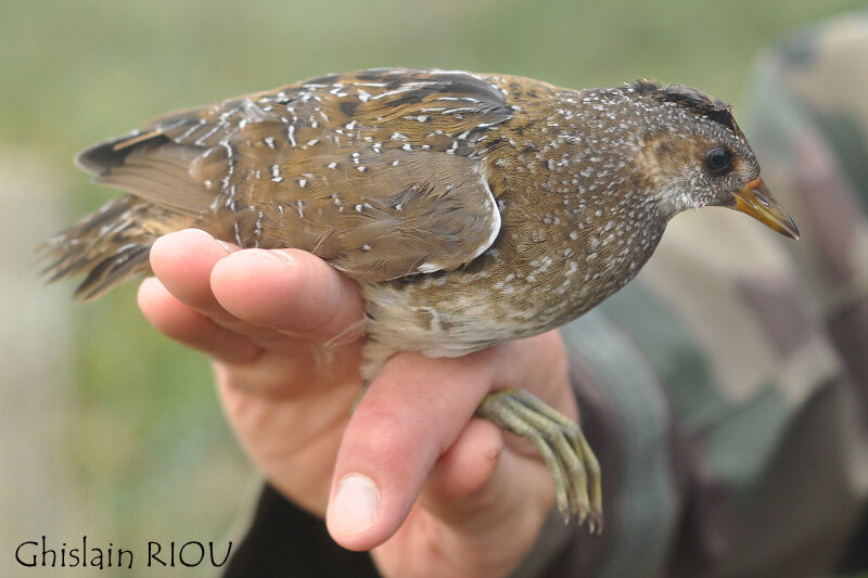
[[[188,218],[189,219],[189,218]],[[168,231],[192,223],[127,194],[87,216],[40,248],[48,282],[87,274],[75,297],[89,301],[136,273],[150,272],[151,245]]]

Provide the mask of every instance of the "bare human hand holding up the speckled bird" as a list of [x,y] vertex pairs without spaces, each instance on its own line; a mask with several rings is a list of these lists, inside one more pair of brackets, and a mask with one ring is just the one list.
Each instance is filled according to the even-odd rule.
[[195,230],[158,240],[151,264],[142,312],[213,359],[244,449],[335,541],[372,549],[385,576],[503,576],[519,564],[553,486],[528,444],[472,416],[493,389],[524,387],[575,419],[556,332],[457,359],[396,355],[350,415],[360,338],[321,344],[361,319],[354,282],[302,251],[238,251]]

